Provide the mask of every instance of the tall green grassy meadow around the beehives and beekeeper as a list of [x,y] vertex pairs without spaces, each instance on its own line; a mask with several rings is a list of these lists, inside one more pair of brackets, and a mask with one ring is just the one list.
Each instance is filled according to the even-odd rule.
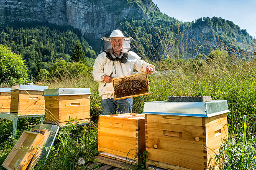
[[[152,57],[145,51],[140,51],[140,54],[148,60]],[[164,72],[149,76],[151,95],[133,98],[133,112],[141,113],[146,101],[166,100],[168,96],[210,95],[212,100],[227,100],[230,110],[228,140],[220,145],[216,164],[221,170],[256,169],[255,58],[241,59],[237,53],[228,53],[223,49],[188,60],[177,59],[172,53],[167,56],[161,61],[151,61],[157,70]],[[41,81],[38,85],[48,85],[49,88],[90,87],[92,128],[69,125],[60,130],[46,163],[40,162],[36,169],[74,169],[79,157],[86,161],[85,167],[97,155],[97,120],[101,114],[98,83],[93,81],[91,74],[75,77],[66,74],[61,78]],[[0,165],[23,130],[30,130],[37,123],[39,120],[33,118],[19,120],[18,135],[13,138],[12,122],[0,120]],[[145,164],[142,162],[137,169],[145,169]]]

